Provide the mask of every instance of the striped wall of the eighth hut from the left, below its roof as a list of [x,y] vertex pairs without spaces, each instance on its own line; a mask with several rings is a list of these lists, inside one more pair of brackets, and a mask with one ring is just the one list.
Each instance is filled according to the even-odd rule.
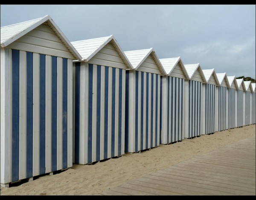
[[226,129],[233,129],[236,127],[236,89],[233,88],[228,88],[227,89],[227,94],[228,94],[228,103],[227,103],[227,126]]

